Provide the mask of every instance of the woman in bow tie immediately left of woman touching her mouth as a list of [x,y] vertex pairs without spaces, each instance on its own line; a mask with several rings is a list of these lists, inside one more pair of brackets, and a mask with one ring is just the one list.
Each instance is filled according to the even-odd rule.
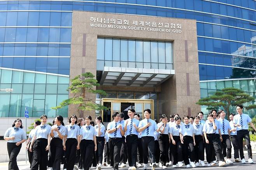
[[193,127],[195,130],[195,142],[193,153],[195,153],[195,163],[196,165],[205,166],[204,161],[204,146],[203,146],[203,125],[200,125],[200,117],[195,116]]

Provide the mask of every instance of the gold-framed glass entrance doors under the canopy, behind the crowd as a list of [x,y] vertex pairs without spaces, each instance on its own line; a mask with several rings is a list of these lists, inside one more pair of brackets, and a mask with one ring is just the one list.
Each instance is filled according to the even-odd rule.
[[140,114],[143,119],[143,110],[151,110],[151,119],[154,119],[154,100],[139,100],[139,99],[102,99],[103,106],[107,107],[102,113],[103,122],[112,121],[113,113],[124,113],[124,120],[128,119],[128,109],[135,109],[136,113]]

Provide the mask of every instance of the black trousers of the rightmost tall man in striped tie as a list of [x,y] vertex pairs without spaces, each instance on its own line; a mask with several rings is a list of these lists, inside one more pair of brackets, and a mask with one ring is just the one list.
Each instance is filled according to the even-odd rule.
[[237,141],[240,152],[240,158],[244,158],[244,150],[243,150],[243,139],[245,140],[248,152],[248,158],[252,158],[252,147],[248,130],[237,130]]

